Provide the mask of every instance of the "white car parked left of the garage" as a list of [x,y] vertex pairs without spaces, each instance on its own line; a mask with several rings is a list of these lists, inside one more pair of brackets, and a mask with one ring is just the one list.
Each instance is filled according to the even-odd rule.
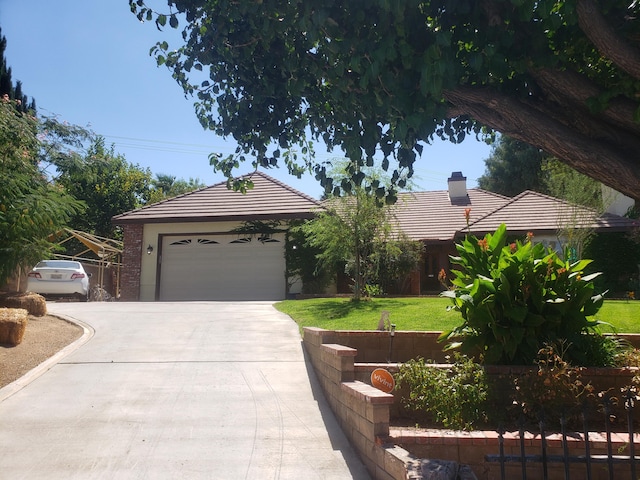
[[89,298],[89,277],[80,262],[73,260],[43,260],[29,272],[27,291],[45,297]]

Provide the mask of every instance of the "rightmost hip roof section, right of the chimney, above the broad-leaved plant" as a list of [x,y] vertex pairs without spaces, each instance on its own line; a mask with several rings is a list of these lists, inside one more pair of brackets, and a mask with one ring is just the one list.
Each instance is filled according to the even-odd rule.
[[473,221],[472,232],[492,232],[502,223],[510,233],[556,231],[563,225],[595,230],[628,230],[640,226],[637,220],[610,213],[600,216],[586,207],[530,190],[522,192],[488,215]]

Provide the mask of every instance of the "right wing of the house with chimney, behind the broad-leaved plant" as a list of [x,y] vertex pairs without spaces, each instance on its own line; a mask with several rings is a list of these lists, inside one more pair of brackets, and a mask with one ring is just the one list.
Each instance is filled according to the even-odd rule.
[[[611,193],[609,192],[611,195]],[[626,211],[633,205],[617,198],[615,208]],[[467,219],[468,214],[468,219]],[[613,213],[597,215],[593,210],[558,198],[525,191],[509,198],[485,190],[467,189],[466,177],[453,172],[448,189],[432,192],[408,192],[399,196],[396,210],[398,226],[411,239],[425,244],[424,261],[412,277],[411,293],[439,292],[441,269],[449,270],[449,255],[456,255],[455,243],[467,233],[483,236],[507,225],[509,235],[524,237],[528,232],[535,241],[559,250],[561,227],[575,225],[594,231],[629,231],[639,223]]]

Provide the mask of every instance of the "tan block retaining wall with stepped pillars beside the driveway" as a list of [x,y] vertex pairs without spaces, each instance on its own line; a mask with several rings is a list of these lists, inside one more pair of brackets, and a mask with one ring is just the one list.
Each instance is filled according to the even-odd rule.
[[[389,334],[388,332],[349,333],[305,327],[304,346],[342,429],[359,452],[374,479],[429,478],[425,472],[434,465],[437,465],[438,471],[441,470],[442,465],[449,469],[459,469],[458,478],[482,480],[500,478],[500,465],[485,461],[485,455],[496,455],[499,452],[497,432],[390,427],[390,411],[397,408],[397,404],[394,405],[394,403],[398,400],[394,395],[386,394],[369,385],[367,379],[370,378],[370,372],[374,368],[385,366],[393,372],[397,370],[397,364],[356,363],[355,359],[361,355],[356,349],[329,343],[336,338],[358,338],[360,344],[365,344],[364,339],[367,336],[365,333],[367,333],[372,338],[373,349],[379,350],[380,333],[385,334],[387,338]],[[408,342],[408,339],[405,341]],[[630,341],[637,345],[636,336],[632,336]],[[367,357],[367,353],[363,352],[362,356]],[[630,370],[601,369],[592,375],[593,380],[597,380],[596,377],[602,377],[599,379],[600,382],[611,382],[617,385],[619,381],[610,377],[621,375],[626,377],[620,380],[625,383],[629,375],[635,373]],[[626,434],[612,434],[614,453],[628,453],[629,440]],[[570,455],[584,455],[585,446],[581,435],[571,436],[569,442]],[[640,434],[634,435],[633,442],[635,445],[640,445]],[[607,446],[602,433],[591,432],[589,443],[592,455],[606,455]],[[539,435],[527,434],[525,439],[527,454],[540,454],[540,445]],[[561,438],[558,435],[547,437],[547,446],[548,454],[562,454]],[[519,454],[520,443],[516,432],[505,434],[504,448],[506,455]],[[467,465],[473,469],[473,472]],[[571,478],[582,478],[585,475],[584,468],[581,464],[572,465]],[[614,478],[628,477],[628,468],[628,465],[616,466]],[[519,478],[520,464],[507,464],[506,474],[506,478]],[[548,474],[550,480],[564,478],[564,466],[552,464],[549,466]],[[527,478],[540,478],[540,464],[528,465],[527,475]],[[602,465],[594,464],[592,478],[594,480],[609,478],[609,472]]]

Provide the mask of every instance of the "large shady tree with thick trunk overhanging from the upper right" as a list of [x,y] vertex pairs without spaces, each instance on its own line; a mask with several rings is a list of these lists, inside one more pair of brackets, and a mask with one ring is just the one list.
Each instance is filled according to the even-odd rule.
[[[640,2],[630,0],[168,0],[141,20],[183,22],[154,53],[205,128],[240,147],[230,173],[276,164],[305,135],[402,182],[434,135],[482,126],[640,197]],[[285,163],[298,173],[293,157]],[[389,166],[389,160],[397,163]],[[305,157],[327,189],[326,166]],[[354,168],[353,175],[359,169]]]

